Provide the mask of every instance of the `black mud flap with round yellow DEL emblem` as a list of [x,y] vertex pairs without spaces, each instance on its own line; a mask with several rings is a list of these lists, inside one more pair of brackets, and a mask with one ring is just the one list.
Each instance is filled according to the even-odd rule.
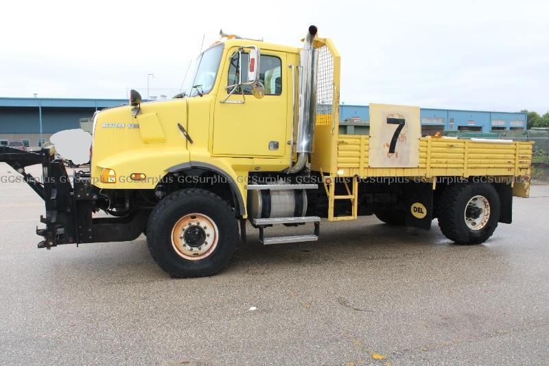
[[410,182],[405,190],[406,226],[429,230],[433,219],[432,183]]

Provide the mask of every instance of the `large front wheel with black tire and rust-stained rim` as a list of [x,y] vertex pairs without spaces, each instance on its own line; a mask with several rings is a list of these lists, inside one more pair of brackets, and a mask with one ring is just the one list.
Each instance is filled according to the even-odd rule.
[[207,190],[191,188],[168,195],[154,207],[147,225],[152,258],[176,278],[220,272],[235,253],[237,240],[233,210]]

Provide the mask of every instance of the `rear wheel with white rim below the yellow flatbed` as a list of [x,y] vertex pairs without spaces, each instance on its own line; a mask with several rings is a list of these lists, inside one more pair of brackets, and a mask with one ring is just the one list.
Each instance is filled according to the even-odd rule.
[[[467,207],[473,203],[482,206],[480,211],[484,213],[471,214],[471,211],[467,211]],[[487,183],[451,185],[441,194],[437,208],[442,233],[457,244],[485,242],[492,236],[500,221],[500,197],[495,188]],[[478,217],[474,218],[477,214]],[[473,228],[474,225],[476,226]]]

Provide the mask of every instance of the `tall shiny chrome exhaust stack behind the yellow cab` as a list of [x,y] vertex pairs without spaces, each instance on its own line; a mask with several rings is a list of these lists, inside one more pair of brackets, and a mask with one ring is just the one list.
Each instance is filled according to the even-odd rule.
[[313,148],[314,123],[316,121],[316,73],[318,72],[318,49],[313,46],[318,30],[309,27],[300,52],[299,104],[297,115],[296,152],[297,161],[288,173],[299,172],[307,163]]

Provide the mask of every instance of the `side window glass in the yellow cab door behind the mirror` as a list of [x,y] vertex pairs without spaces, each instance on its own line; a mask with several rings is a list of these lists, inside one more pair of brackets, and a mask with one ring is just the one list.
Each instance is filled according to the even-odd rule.
[[[242,65],[248,65],[248,54],[242,53]],[[282,62],[277,56],[261,55],[259,60],[259,80],[265,87],[265,95],[280,95],[282,93]],[[229,80],[227,86],[238,84],[238,52],[231,56],[229,65]],[[248,73],[242,73],[242,82],[248,81]],[[252,93],[252,87],[245,85],[242,87],[245,94]],[[231,89],[228,90],[231,92]],[[242,93],[240,88],[235,93]]]

